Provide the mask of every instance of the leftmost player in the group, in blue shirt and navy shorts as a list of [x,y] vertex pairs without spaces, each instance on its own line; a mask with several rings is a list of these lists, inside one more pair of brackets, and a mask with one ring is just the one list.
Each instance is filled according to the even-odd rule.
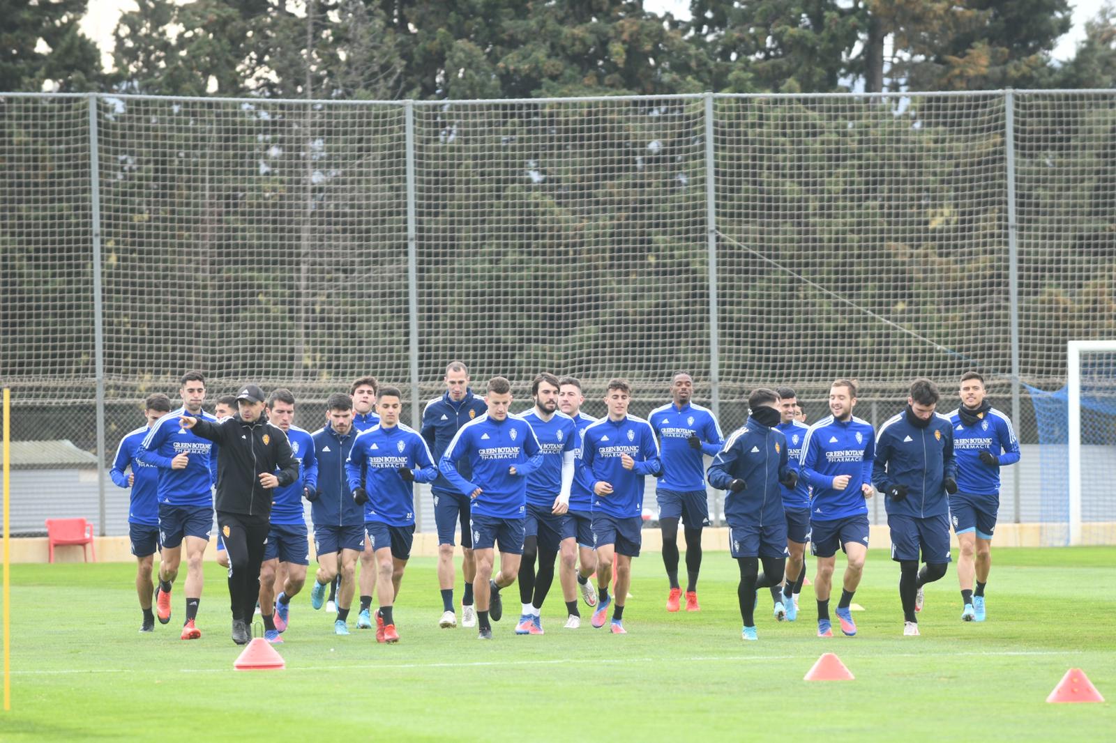
[[[140,426],[121,440],[116,447],[116,459],[108,474],[118,488],[131,488],[128,499],[128,539],[132,553],[136,556],[136,592],[143,610],[142,633],[155,631],[155,615],[151,610],[151,597],[155,585],[151,573],[158,549],[158,469],[136,457],[136,450],[147,437],[155,422],[171,412],[171,398],[163,393],[148,395],[144,401],[143,414],[147,425]],[[125,470],[131,472],[124,474]]]

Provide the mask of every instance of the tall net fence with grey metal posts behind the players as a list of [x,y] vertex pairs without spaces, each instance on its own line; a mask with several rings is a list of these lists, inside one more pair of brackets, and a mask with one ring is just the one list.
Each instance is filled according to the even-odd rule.
[[521,401],[573,374],[597,415],[608,378],[645,414],[683,369],[725,431],[759,385],[814,421],[850,376],[882,423],[975,368],[1024,445],[1001,513],[1039,521],[1026,385],[1116,336],[1114,126],[1114,91],[0,96],[13,437],[110,457],[189,368],[290,387],[307,428],[365,374],[411,422],[452,359]]

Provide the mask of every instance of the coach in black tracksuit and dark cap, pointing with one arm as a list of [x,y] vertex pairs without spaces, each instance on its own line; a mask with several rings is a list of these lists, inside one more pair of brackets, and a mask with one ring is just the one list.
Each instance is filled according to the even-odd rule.
[[263,390],[248,385],[237,395],[239,413],[221,423],[183,417],[182,425],[220,445],[217,470],[217,524],[229,552],[232,639],[251,639],[248,623],[260,596],[260,565],[271,525],[271,491],[298,479],[282,428],[263,415]]

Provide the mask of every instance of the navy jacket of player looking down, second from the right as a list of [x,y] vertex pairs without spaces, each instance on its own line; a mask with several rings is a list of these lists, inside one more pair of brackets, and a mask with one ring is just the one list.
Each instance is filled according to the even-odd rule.
[[[920,427],[904,411],[879,426],[872,484],[884,498],[888,515],[925,519],[949,513],[950,501],[942,484],[946,477],[956,480],[953,426],[947,417],[934,413],[929,424]],[[906,499],[896,503],[886,498],[892,485],[906,485]]]

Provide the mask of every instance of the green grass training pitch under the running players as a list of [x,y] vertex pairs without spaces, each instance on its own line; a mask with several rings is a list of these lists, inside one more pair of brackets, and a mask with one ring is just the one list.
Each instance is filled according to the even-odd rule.
[[[994,550],[989,620],[960,621],[953,570],[927,587],[922,637],[902,637],[898,568],[874,551],[859,635],[815,637],[814,596],[777,624],[761,591],[759,643],[740,639],[735,563],[706,552],[700,614],[667,615],[660,556],[635,561],[626,636],[566,630],[558,586],[546,635],[517,637],[518,590],[496,638],[443,630],[434,562],[413,560],[396,608],[402,640],[333,634],[295,599],[281,672],[234,672],[222,570],[206,566],[201,640],[171,624],[141,635],[129,565],[13,566],[12,711],[0,740],[660,741],[1116,737],[1116,548]],[[841,563],[838,560],[838,570]],[[812,559],[811,559],[812,570]],[[557,581],[556,581],[557,583]],[[460,586],[458,589],[460,601]],[[355,625],[355,611],[350,626]],[[831,650],[852,682],[805,682]],[[1108,702],[1047,704],[1069,667]]]

